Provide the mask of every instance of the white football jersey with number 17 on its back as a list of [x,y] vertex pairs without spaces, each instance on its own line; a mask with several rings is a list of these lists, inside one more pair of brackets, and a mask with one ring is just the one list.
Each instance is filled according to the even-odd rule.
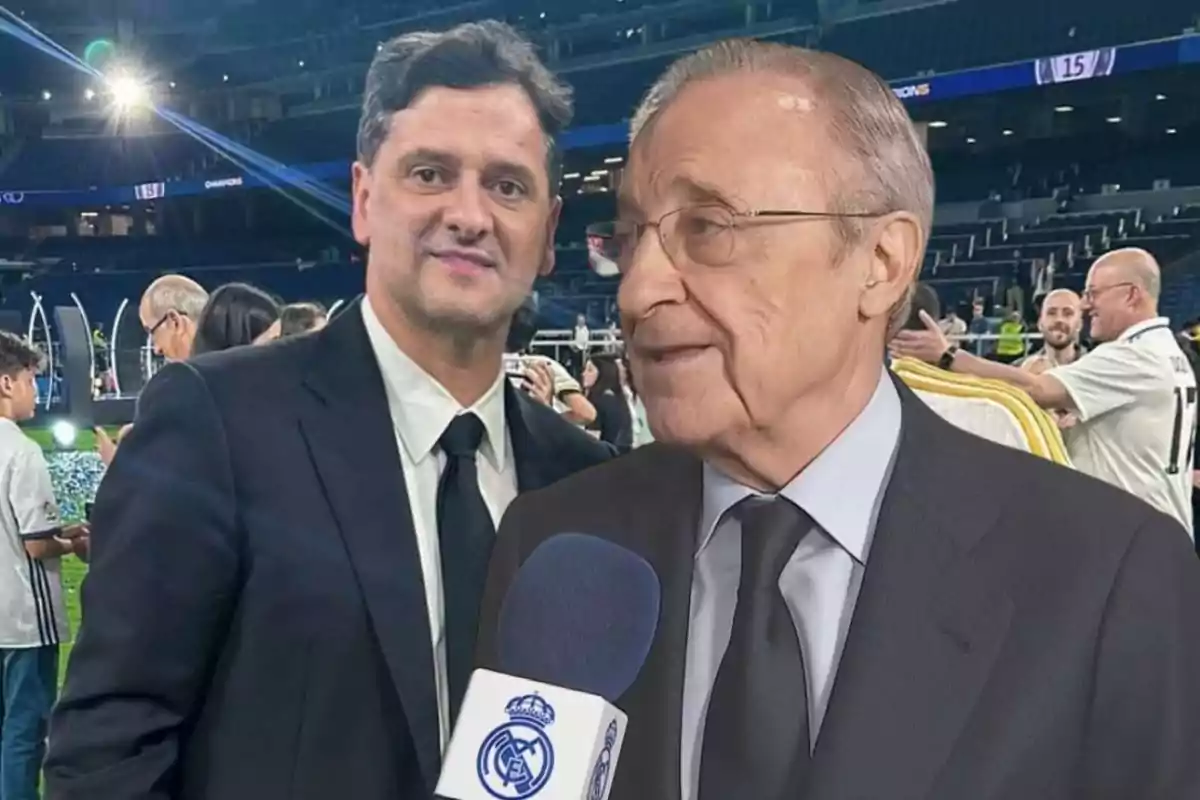
[[1075,468],[1146,500],[1194,536],[1196,380],[1170,323],[1133,325],[1046,374],[1075,404],[1079,425],[1064,437]]

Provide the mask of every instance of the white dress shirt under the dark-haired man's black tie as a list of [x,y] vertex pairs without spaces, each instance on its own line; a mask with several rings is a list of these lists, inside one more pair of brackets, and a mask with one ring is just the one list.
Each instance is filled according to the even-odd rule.
[[[425,604],[433,634],[433,673],[438,692],[442,748],[450,738],[450,696],[446,679],[445,603],[442,594],[442,551],[438,540],[438,480],[446,457],[438,439],[451,420],[466,411],[484,423],[484,441],[476,455],[479,488],[499,527],[504,510],[517,495],[512,443],[504,417],[504,373],[497,367],[496,383],[478,403],[464,409],[450,392],[401,350],[384,330],[371,303],[362,299],[362,321],[379,361],[391,423],[400,444],[400,463],[408,488],[408,505],[416,530],[416,548],[425,577]],[[398,531],[397,531],[398,533]]]

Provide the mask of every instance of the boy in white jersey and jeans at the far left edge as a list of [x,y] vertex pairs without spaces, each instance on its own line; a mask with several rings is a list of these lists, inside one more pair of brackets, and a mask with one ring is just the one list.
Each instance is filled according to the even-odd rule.
[[0,800],[37,800],[37,776],[68,636],[59,563],[85,555],[86,527],[64,527],[34,416],[40,355],[0,331]]

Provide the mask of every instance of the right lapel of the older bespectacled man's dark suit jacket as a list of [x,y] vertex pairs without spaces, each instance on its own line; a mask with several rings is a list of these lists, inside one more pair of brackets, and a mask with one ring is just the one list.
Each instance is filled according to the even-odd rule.
[[922,798],[1012,615],[971,549],[998,500],[959,468],[965,434],[900,389],[904,431],[814,756],[809,800]]

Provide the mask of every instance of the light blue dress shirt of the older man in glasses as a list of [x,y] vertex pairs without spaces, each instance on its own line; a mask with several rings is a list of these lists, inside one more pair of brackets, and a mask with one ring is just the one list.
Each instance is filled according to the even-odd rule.
[[[899,441],[900,396],[884,372],[866,408],[780,492],[816,523],[779,578],[804,651],[814,746],[829,704]],[[737,607],[742,527],[726,512],[756,494],[760,493],[704,464],[684,674],[683,800],[695,800],[698,795],[704,718]]]

